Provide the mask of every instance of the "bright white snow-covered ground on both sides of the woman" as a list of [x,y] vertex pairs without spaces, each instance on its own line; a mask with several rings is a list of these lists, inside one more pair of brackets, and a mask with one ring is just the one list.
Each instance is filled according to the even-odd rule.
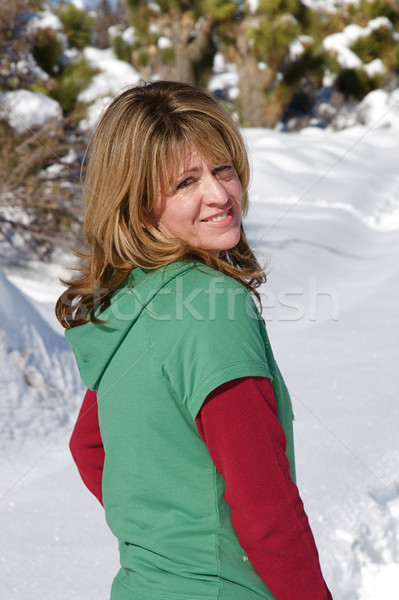
[[[371,124],[372,125],[372,124]],[[335,600],[399,598],[399,128],[246,130],[249,238]],[[61,266],[0,275],[0,596],[106,600],[117,544],[68,440],[82,396]]]

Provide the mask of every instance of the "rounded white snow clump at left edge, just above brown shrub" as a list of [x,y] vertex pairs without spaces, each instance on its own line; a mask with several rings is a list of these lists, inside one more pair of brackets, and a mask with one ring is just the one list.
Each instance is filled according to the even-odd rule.
[[41,127],[50,119],[62,119],[60,104],[40,92],[15,90],[0,93],[0,118],[18,133]]

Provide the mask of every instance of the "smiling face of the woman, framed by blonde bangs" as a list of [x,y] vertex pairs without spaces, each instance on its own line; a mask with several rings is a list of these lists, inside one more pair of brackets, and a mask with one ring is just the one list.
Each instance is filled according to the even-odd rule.
[[240,239],[241,183],[231,162],[208,164],[187,152],[176,181],[155,203],[155,226],[169,238],[218,255]]

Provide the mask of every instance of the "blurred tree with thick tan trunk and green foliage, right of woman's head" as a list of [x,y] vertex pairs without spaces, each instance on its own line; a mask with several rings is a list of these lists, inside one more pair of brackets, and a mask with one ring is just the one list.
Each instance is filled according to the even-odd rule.
[[[249,5],[240,3],[220,37],[225,53],[237,64],[243,123],[273,127],[301,78],[321,76],[325,53],[311,35],[319,21],[298,0],[260,0],[256,10]],[[290,45],[299,35],[306,35],[304,51],[292,58]]]

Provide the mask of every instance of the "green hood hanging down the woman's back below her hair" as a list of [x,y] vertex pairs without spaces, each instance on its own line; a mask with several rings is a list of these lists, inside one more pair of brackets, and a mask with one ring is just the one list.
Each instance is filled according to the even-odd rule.
[[112,296],[110,306],[98,315],[104,323],[89,321],[66,331],[80,376],[89,389],[97,390],[115,352],[154,296],[193,266],[191,261],[176,261],[154,271],[135,268]]

